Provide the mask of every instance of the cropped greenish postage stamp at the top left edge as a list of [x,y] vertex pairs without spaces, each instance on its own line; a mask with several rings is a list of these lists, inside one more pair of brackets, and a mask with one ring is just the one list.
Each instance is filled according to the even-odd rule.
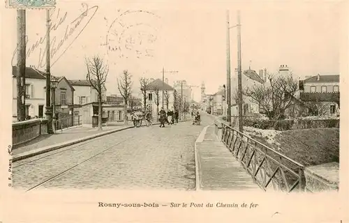
[[56,0],[7,0],[8,8],[54,8]]

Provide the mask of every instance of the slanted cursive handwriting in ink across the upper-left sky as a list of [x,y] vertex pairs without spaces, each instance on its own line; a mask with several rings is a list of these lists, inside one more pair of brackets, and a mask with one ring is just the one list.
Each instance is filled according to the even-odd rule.
[[[78,15],[73,21],[69,21],[68,13],[61,12],[60,9],[52,10],[50,14],[50,59],[52,61],[51,66],[54,66],[55,63],[63,56],[66,51],[69,49],[70,45],[72,45],[75,40],[81,35],[82,31],[86,28],[86,26],[91,22],[94,18],[98,10],[98,6],[89,7],[87,3],[82,3],[82,13]],[[64,36],[55,36],[55,31],[61,31],[64,29]],[[26,38],[27,43],[27,59],[34,54],[34,52],[38,51],[38,68],[44,68],[45,57],[46,57],[46,38],[47,33],[45,35],[40,36],[32,45],[29,45],[29,38]],[[12,64],[15,66],[14,60],[17,54],[17,47],[13,53]]]

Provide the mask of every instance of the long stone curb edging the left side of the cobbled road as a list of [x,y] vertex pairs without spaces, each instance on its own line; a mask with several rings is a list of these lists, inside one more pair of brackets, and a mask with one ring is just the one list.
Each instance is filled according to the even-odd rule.
[[[178,122],[185,122],[185,121],[189,121],[189,120],[183,120],[183,121],[178,121]],[[153,123],[153,125],[158,125],[158,124],[160,124],[160,123]],[[145,125],[142,125],[142,126],[145,126]],[[116,130],[109,130],[109,131],[101,132],[101,133],[94,134],[94,135],[91,135],[91,136],[88,136],[88,137],[82,137],[80,139],[73,139],[73,140],[70,140],[70,141],[65,141],[63,143],[54,144],[54,145],[51,145],[51,146],[45,146],[43,148],[37,148],[34,151],[27,151],[27,152],[24,152],[24,153],[13,155],[13,157],[10,160],[12,162],[17,162],[17,161],[20,161],[20,160],[27,159],[29,157],[34,157],[36,155],[40,155],[40,154],[43,154],[43,153],[48,153],[50,151],[54,151],[54,150],[57,150],[59,148],[64,148],[66,146],[79,144],[82,141],[87,141],[89,139],[95,139],[95,138],[98,138],[98,137],[103,137],[103,136],[105,136],[107,134],[112,134],[114,132],[120,132],[122,130],[128,130],[128,129],[131,129],[131,128],[134,128],[134,126],[128,126],[128,127],[124,127],[124,128],[119,128],[119,129],[116,129]]]

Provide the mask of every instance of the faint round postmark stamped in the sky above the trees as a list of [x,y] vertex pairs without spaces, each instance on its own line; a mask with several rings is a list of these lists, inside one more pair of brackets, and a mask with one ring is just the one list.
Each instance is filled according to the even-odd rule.
[[154,13],[144,10],[121,13],[107,32],[107,51],[117,53],[120,58],[153,57],[158,28],[147,20],[158,18]]

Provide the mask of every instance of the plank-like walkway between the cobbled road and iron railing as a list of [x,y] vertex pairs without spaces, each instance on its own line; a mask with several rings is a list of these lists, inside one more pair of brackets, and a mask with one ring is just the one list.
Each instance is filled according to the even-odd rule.
[[260,190],[252,177],[218,141],[214,125],[195,141],[196,190]]

